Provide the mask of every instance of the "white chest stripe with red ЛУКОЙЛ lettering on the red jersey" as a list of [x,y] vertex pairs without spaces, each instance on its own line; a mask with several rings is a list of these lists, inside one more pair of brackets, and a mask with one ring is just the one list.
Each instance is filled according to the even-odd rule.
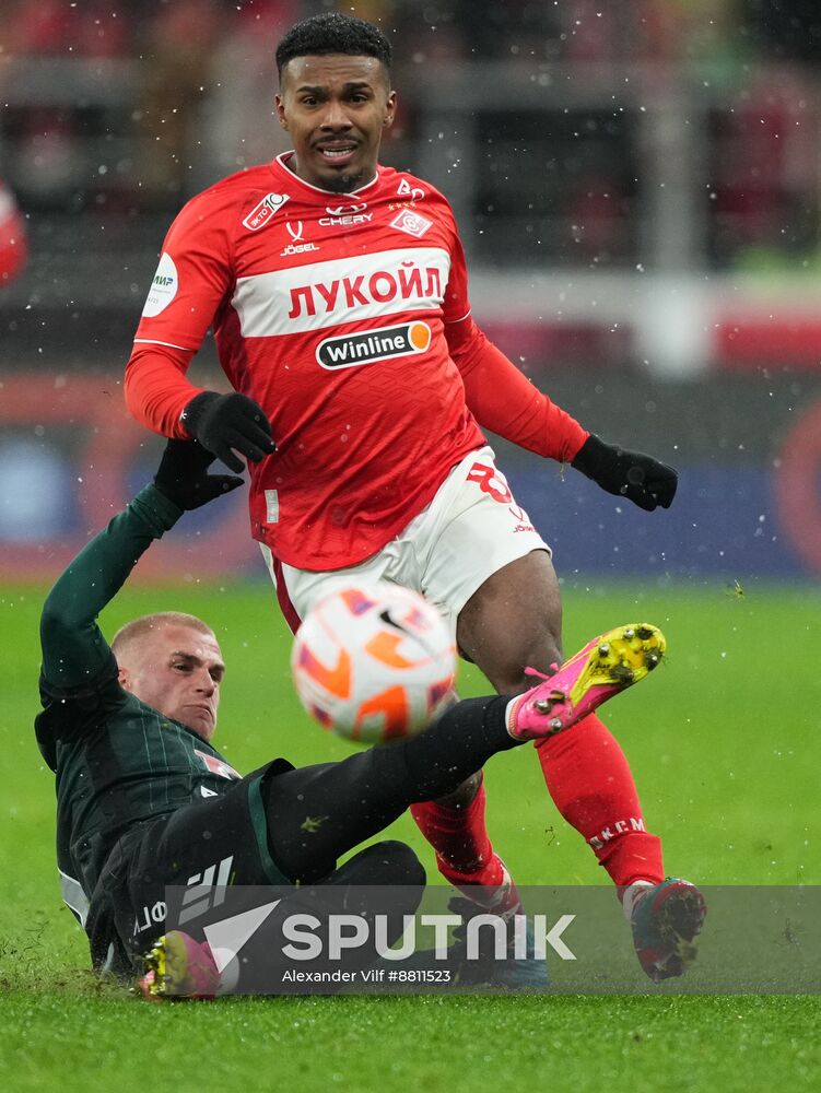
[[271,338],[438,309],[449,274],[441,247],[380,250],[239,278],[231,303],[244,338]]

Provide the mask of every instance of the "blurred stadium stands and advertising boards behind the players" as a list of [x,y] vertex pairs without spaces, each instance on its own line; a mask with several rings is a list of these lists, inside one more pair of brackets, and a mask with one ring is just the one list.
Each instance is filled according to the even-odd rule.
[[[273,47],[324,7],[0,7],[0,178],[23,218],[0,239],[7,578],[51,577],[144,479],[152,442],[121,375],[165,230],[209,183],[285,148]],[[506,450],[560,572],[814,578],[813,0],[340,7],[392,32],[401,109],[383,158],[453,201],[480,324],[586,425],[683,472],[668,516],[628,518],[580,475]],[[214,368],[207,348],[193,375]],[[233,520],[164,544],[154,575],[261,576],[242,497]]]

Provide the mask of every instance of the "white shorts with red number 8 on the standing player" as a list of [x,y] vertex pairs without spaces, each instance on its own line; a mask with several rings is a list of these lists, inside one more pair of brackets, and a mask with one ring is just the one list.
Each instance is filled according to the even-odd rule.
[[496,469],[493,449],[479,448],[449,472],[431,504],[373,557],[344,569],[314,573],[277,561],[260,543],[292,630],[340,579],[392,580],[435,603],[456,637],[456,620],[497,569],[550,546]]

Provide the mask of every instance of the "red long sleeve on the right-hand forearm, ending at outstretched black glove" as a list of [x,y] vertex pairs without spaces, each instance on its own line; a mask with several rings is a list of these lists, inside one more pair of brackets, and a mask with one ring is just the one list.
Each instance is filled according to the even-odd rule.
[[476,420],[529,451],[570,462],[590,435],[551,402],[468,316],[445,327],[450,355]]

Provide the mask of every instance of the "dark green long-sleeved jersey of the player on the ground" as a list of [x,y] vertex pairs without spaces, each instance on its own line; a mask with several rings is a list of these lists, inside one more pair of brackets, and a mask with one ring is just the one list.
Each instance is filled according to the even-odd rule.
[[129,827],[221,794],[239,777],[192,730],[120,687],[96,622],[140,555],[180,515],[146,486],[74,559],[43,609],[44,708],[35,730],[57,775],[63,894],[81,917],[106,857]]

